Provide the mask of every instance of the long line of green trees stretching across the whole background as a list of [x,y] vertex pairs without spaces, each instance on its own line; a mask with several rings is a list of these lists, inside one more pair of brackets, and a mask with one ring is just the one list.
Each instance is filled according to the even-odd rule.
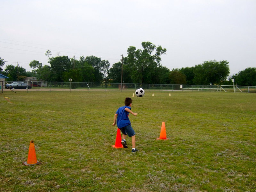
[[[26,69],[7,65],[3,70],[4,59],[0,58],[0,72],[9,77],[8,81],[24,81],[26,77],[35,76],[44,81],[68,82],[104,82],[104,83],[139,83],[139,84],[190,84],[232,85],[235,79],[238,85],[256,85],[256,68],[245,70],[229,76],[228,61],[204,61],[194,67],[174,68],[172,70],[161,65],[161,55],[166,49],[151,42],[142,42],[142,49],[130,46],[127,57],[113,64],[110,68],[108,60],[96,56],[80,57],[79,60],[68,56],[52,57],[50,50],[45,55],[48,64],[37,60],[29,63],[32,72]],[[18,72],[17,72],[18,71]],[[123,76],[121,77],[121,74]]]

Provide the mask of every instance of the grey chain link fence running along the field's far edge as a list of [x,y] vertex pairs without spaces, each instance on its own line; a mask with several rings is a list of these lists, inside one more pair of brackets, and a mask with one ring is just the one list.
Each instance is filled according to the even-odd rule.
[[[12,82],[6,82],[11,84]],[[79,83],[79,82],[24,82],[32,88],[29,91],[129,91],[142,88],[153,91],[207,91],[207,92],[256,92],[256,86],[226,85],[180,85],[180,84],[121,84],[121,83]],[[2,82],[0,82],[2,85]],[[5,89],[5,86],[1,86]],[[235,90],[235,91],[234,91]]]

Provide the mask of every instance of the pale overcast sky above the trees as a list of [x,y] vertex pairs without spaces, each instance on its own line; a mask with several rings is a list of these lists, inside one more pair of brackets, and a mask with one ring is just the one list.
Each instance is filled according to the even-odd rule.
[[0,57],[27,71],[44,53],[112,66],[127,48],[166,48],[161,64],[193,67],[227,60],[230,75],[256,67],[255,0],[1,0]]

